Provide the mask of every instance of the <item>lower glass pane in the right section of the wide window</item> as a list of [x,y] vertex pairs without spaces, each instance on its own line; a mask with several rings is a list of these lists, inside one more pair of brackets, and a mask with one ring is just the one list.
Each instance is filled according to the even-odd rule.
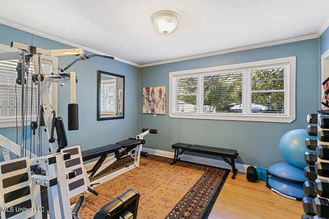
[[284,114],[284,92],[252,93],[251,112]]

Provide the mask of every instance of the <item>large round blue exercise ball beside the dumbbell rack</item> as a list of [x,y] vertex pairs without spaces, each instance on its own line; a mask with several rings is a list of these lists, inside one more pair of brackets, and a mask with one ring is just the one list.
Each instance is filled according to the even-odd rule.
[[305,152],[311,151],[305,147],[306,138],[317,139],[316,136],[308,135],[306,129],[294,129],[282,135],[279,142],[279,149],[285,160],[301,169],[307,166],[304,160]]

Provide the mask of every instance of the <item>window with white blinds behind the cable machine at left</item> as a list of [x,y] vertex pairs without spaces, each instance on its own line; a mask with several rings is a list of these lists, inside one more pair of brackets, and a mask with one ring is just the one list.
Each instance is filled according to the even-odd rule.
[[[0,118],[8,120],[21,116],[22,110],[22,87],[16,84],[18,59],[0,61]],[[43,61],[43,70],[46,76],[52,72],[50,61]],[[32,82],[34,69],[30,64],[28,75],[25,76],[26,105],[25,115],[28,119],[36,115],[36,105],[38,102],[38,87]],[[33,97],[33,98],[32,98]]]

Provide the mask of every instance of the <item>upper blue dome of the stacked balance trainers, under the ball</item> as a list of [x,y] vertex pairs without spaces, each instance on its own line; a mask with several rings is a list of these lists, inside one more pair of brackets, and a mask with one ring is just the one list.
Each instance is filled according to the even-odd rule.
[[303,185],[307,179],[304,170],[288,163],[276,163],[267,168],[267,173],[282,180]]

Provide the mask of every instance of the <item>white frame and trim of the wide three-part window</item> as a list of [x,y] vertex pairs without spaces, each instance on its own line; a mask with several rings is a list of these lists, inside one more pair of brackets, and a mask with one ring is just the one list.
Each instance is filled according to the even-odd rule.
[[[287,83],[287,103],[289,103],[287,114],[285,115],[273,115],[273,114],[265,114],[265,113],[248,113],[248,114],[239,114],[239,113],[202,113],[202,114],[192,114],[192,113],[184,113],[179,112],[175,113],[173,110],[173,106],[175,106],[173,102],[173,77],[174,76],[184,76],[184,75],[192,75],[198,73],[206,73],[206,72],[218,72],[218,71],[233,71],[233,70],[244,70],[248,71],[247,68],[260,68],[265,66],[279,66],[279,65],[288,65],[288,77],[285,80]],[[250,74],[243,74],[244,82],[245,77]],[[248,81],[250,82],[251,79]],[[200,84],[200,83],[198,83]],[[243,83],[243,99],[246,98],[246,89],[250,85]],[[199,86],[198,86],[199,88]],[[202,89],[203,90],[203,89]],[[199,93],[200,90],[198,90]],[[287,107],[287,106],[285,106]],[[200,106],[198,106],[198,109]],[[245,107],[244,107],[245,108]],[[200,68],[200,69],[192,69],[192,70],[184,70],[184,71],[175,71],[169,73],[169,116],[172,118],[192,118],[192,119],[203,119],[203,120],[231,120],[231,121],[253,121],[253,122],[276,122],[276,123],[291,123],[296,119],[296,56],[285,57],[285,58],[276,58],[269,59],[258,62],[250,62],[250,63],[241,63],[234,65],[226,65],[226,66],[216,66],[210,68]]]

